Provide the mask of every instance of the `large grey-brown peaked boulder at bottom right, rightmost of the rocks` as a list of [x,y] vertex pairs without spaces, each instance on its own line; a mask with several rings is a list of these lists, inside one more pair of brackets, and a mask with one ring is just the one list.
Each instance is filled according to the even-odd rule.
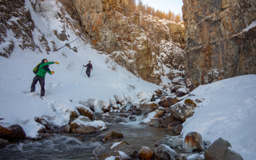
[[242,160],[243,157],[235,152],[227,140],[219,138],[214,141],[204,153],[205,160]]

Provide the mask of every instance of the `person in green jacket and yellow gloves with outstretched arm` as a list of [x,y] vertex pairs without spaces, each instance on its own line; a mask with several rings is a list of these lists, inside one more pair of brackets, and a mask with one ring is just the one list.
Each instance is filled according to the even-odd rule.
[[51,71],[48,67],[49,65],[56,63],[58,65],[60,65],[60,63],[58,63],[58,61],[51,61],[48,62],[47,59],[42,60],[42,63],[40,64],[39,68],[38,68],[38,72],[36,74],[36,76],[33,79],[33,82],[31,84],[31,92],[35,92],[35,86],[37,81],[39,81],[40,86],[41,86],[41,98],[44,97],[44,78],[45,78],[45,74],[46,72],[48,72],[49,74],[54,74],[54,71]]

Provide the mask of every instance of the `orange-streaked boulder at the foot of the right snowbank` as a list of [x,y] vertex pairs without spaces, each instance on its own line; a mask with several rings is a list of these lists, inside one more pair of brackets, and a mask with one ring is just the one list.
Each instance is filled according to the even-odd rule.
[[182,151],[184,153],[201,152],[205,150],[201,134],[189,132],[184,140]]

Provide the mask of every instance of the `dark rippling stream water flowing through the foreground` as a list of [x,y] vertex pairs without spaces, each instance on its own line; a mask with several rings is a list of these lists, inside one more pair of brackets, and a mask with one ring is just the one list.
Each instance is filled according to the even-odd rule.
[[0,150],[0,159],[94,159],[93,150],[102,144],[102,138],[109,131],[124,134],[122,141],[127,141],[132,148],[149,147],[154,150],[154,143],[172,130],[164,127],[150,127],[136,123],[108,124],[109,129],[97,134],[53,134],[43,140],[26,139],[19,144],[8,145]]

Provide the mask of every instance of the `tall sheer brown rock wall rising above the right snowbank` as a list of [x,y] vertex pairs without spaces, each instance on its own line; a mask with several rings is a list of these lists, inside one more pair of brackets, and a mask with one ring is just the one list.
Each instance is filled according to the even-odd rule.
[[186,77],[194,87],[256,74],[256,27],[250,26],[256,20],[255,0],[183,3]]

